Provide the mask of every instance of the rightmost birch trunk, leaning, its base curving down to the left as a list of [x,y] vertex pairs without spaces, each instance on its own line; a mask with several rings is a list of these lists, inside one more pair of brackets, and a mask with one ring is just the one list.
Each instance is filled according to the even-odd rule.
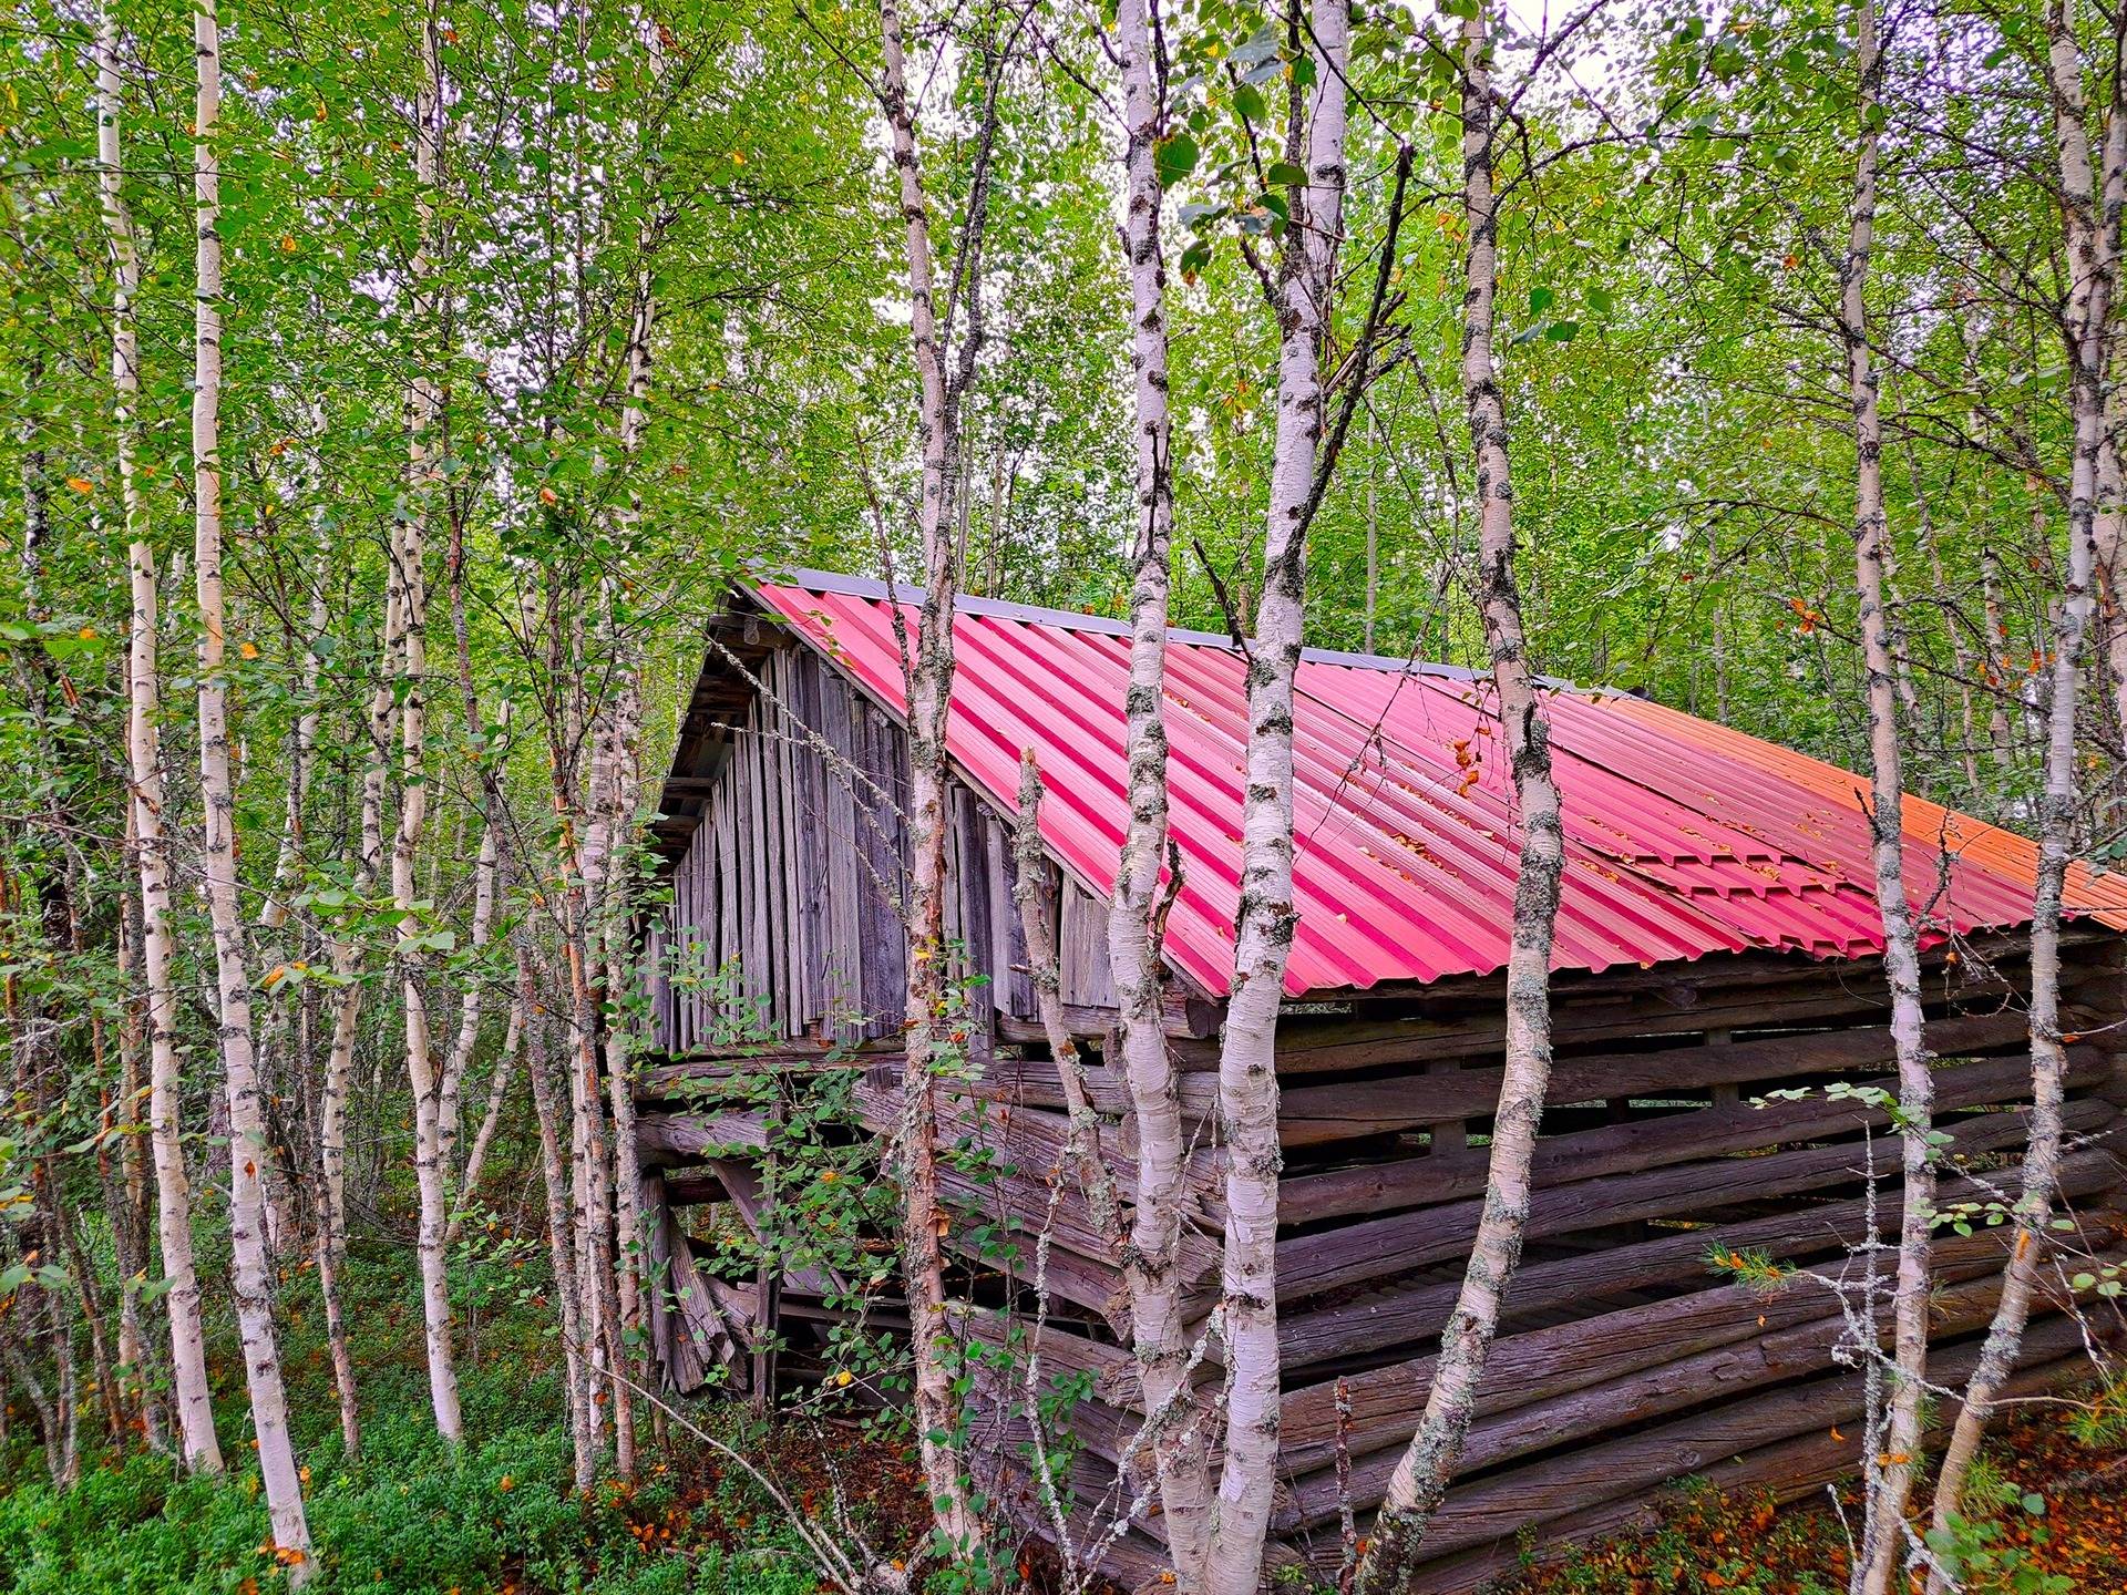
[[[2112,21],[2114,53],[2127,17]],[[2067,583],[2053,606],[2053,702],[2046,712],[2046,785],[2040,795],[2038,885],[2031,895],[2031,1142],[2023,1157],[2016,1199],[2016,1240],[2002,1287],[2002,1302],[1987,1329],[1980,1361],[1965,1384],[1957,1427],[1936,1476],[1933,1527],[1948,1529],[1961,1508],[1965,1476],[1993,1414],[1995,1395],[2016,1367],[2023,1329],[2031,1314],[2053,1185],[2061,1161],[2061,1104],[2067,1053],[2061,1042],[2061,895],[2076,834],[2076,700],[2082,647],[2095,608],[2097,472],[2106,432],[2106,381],[2114,262],[2118,257],[2121,198],[2127,189],[2127,104],[2112,83],[2104,138],[2104,177],[2091,162],[2089,111],[2082,87],[2082,51],[2067,0],[2046,6],[2046,64],[2053,87],[2053,125],[2059,149],[2061,200],[2067,217],[2070,293],[2065,315],[2074,459],[2067,478]],[[1948,1589],[1940,1565],[1929,1567],[1929,1591]]]

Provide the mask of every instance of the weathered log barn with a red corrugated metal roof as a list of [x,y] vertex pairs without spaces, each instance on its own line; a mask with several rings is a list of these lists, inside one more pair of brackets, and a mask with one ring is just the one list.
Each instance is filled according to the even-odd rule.
[[[912,595],[904,615],[915,625]],[[1042,844],[1055,872],[1061,987],[1089,1048],[1110,1161],[1129,1191],[1123,1080],[1102,1068],[1115,1023],[1104,895],[1123,829],[1127,627],[964,600],[953,689],[949,938],[972,987],[976,1078],[942,1104],[949,1134],[998,1170],[951,1176],[985,1225],[1032,1229],[1064,1144],[1061,1095],[1036,1023],[1012,902],[1017,761],[1046,776]],[[1168,651],[1172,832],[1183,885],[1168,919],[1168,1031],[1198,1123],[1195,1312],[1219,1289],[1217,1036],[1232,972],[1244,661],[1223,636],[1176,632]],[[1310,651],[1297,681],[1300,929],[1280,1023],[1285,1172],[1278,1302],[1285,1361],[1274,1555],[1338,1557],[1336,1384],[1349,1391],[1351,1493],[1380,1501],[1423,1406],[1431,1353],[1461,1278],[1485,1187],[1500,1087],[1502,966],[1517,823],[1489,683],[1470,672]],[[655,1340],[668,1380],[725,1365],[759,1389],[817,1376],[821,1270],[732,1278],[706,1242],[759,1223],[772,1110],[704,1108],[736,1070],[791,1091],[823,1059],[861,1068],[857,1106],[895,1121],[904,942],[889,891],[906,780],[902,668],[887,591],[800,572],[734,593],[713,623],[657,825],[672,889],[653,942],[691,968],[730,966],[757,1014],[732,1044],[732,989],[659,978],[664,1057],[640,1089],[653,1250],[672,1299]],[[1887,1119],[1825,1093],[1895,1087],[1865,783],[1740,732],[1614,693],[1546,700],[1568,827],[1557,929],[1557,1070],[1523,1270],[1493,1353],[1463,1472],[1427,1538],[1425,1589],[1466,1591],[1525,1544],[1565,1544],[1640,1521],[1665,1480],[1706,1476],[1778,1497],[1855,1463],[1844,1438],[1861,1380],[1833,1363],[1833,1297],[1761,1295],[1710,1253],[1859,1267],[1868,1172],[1874,1221],[1897,1223]],[[832,757],[830,753],[832,751]],[[2036,851],[2023,838],[1908,800],[1908,889],[1929,921],[1927,1014],[1955,1170],[1942,1202],[2012,1189],[2025,1140],[2025,938]],[[2121,942],[2127,889],[2087,870],[2070,891],[2067,993],[2074,1136],[2061,1191],[2093,1250],[2114,1244]],[[761,1040],[761,1027],[770,1040]],[[1038,1325],[1044,1370],[1089,1376],[1072,1467],[1081,1523],[1117,1499],[1136,1429],[1117,1267],[1068,1189],[1053,1221]],[[1946,1233],[1933,1374],[1957,1382],[1995,1306],[2002,1231]],[[1021,1270],[1023,1272],[1023,1270]],[[991,1255],[966,1263],[970,1336],[1027,1312],[1025,1280]],[[874,1321],[891,1325],[891,1304]],[[776,1331],[774,1342],[761,1333]],[[1032,1325],[1023,1325],[1029,1327]],[[781,1346],[778,1353],[770,1344]],[[2082,1331],[2048,1299],[2023,1387],[2087,1367]],[[1217,1378],[1208,1367],[1206,1378]],[[1025,1427],[983,1408],[1006,1497]],[[1127,1495],[1127,1491],[1125,1491]],[[1132,1584],[1161,1567],[1157,1514],[1108,1555]]]

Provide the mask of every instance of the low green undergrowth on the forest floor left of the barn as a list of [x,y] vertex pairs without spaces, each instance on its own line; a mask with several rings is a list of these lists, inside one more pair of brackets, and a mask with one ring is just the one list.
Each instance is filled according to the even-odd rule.
[[[538,1259],[500,1255],[470,1274],[464,1412],[453,1459],[436,1438],[419,1355],[411,1259],[353,1259],[349,1289],[374,1302],[355,1340],[366,1423],[362,1455],[340,1450],[332,1363],[306,1272],[285,1282],[287,1372],[304,1501],[323,1546],[315,1591],[372,1595],[810,1595],[819,1586],[776,1508],[706,1446],[679,1435],[642,1478],[572,1491],[557,1350]],[[234,1329],[230,1329],[234,1338]],[[236,1367],[232,1357],[228,1367]],[[87,1399],[94,1401],[94,1395]],[[242,1389],[217,1389],[223,1433],[247,1433]],[[810,1501],[810,1438],[764,1431],[736,1401],[696,1404],[689,1421],[774,1459]],[[53,1491],[28,1425],[0,1455],[0,1595],[272,1595],[285,1569],[270,1544],[257,1467],[191,1476],[151,1453],[87,1455],[81,1484]],[[851,1435],[855,1450],[864,1442]],[[232,1459],[234,1461],[234,1459]],[[891,1461],[891,1459],[889,1459]],[[866,1478],[887,1489],[891,1465]],[[855,1501],[855,1516],[881,1510]]]

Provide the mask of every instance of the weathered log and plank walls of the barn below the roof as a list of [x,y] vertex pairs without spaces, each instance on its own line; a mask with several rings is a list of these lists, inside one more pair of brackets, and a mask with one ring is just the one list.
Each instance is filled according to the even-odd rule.
[[[704,740],[717,757],[696,766],[715,772],[674,861],[661,936],[700,948],[698,963],[736,961],[772,1034],[734,1061],[719,1046],[727,1031],[715,993],[672,980],[657,991],[666,1061],[644,1078],[640,1125],[647,1210],[661,1214],[653,1240],[676,1287],[657,1321],[657,1348],[681,1389],[719,1363],[738,1382],[766,1378],[761,1359],[747,1355],[770,1316],[764,1302],[781,1304],[783,1344],[798,1353],[785,1372],[802,1376],[806,1325],[832,1316],[821,1304],[834,1291],[834,1280],[817,1276],[783,1278],[774,1291],[766,1280],[715,1278],[689,1231],[708,1208],[689,1204],[757,1219],[764,1127],[757,1114],[704,1108],[691,1093],[734,1068],[783,1072],[802,1091],[827,1042],[842,1040],[866,1068],[864,1125],[887,1134],[898,1121],[902,938],[887,895],[898,836],[849,787],[861,793],[861,778],[891,787],[906,755],[885,712],[832,668],[776,649],[761,657],[778,702],[819,727],[832,753],[808,746],[789,715],[755,700],[734,706],[721,738]],[[851,783],[851,772],[861,778]],[[1125,1455],[1136,1457],[1129,1438],[1140,1423],[1121,1278],[1068,1180],[1053,1204],[1064,1112],[1032,1025],[1004,821],[961,791],[953,825],[955,934],[966,972],[985,978],[974,1078],[940,1104],[944,1134],[983,1163],[978,1174],[947,1168],[947,1197],[961,1210],[953,1238],[1019,1231],[1021,1255],[1032,1259],[1032,1233],[1049,1229],[1040,1357],[1055,1374],[1091,1378],[1072,1467],[1089,1523],[1136,1493],[1117,1472]],[[1066,997],[1072,1027],[1089,1042],[1093,1097],[1108,1114],[1104,1155],[1127,1199],[1127,1091],[1098,1051],[1112,1023],[1112,995],[1095,978],[1102,910],[1074,883],[1061,885],[1061,944],[1076,946],[1087,966]],[[2070,1046],[2074,1140],[2063,1197],[2080,1229],[2061,1244],[2114,1253],[2127,1076],[2121,1031],[2106,1027],[2121,1019],[2118,946],[2095,931],[2074,931],[2070,942],[2072,1023],[2089,1040]],[[1853,1253],[1872,1238],[1872,1221],[1895,1240],[1889,1116],[1823,1091],[1836,1080],[1895,1089],[1882,991],[1870,961],[1748,955],[1561,976],[1525,1261],[1468,1457],[1427,1538],[1434,1561],[1421,1589],[1476,1589],[1521,1557],[1523,1535],[1568,1544],[1627,1527],[1663,1480],[1682,1474],[1787,1499],[1855,1465],[1853,1446],[1827,1438],[1861,1414],[1859,1380],[1833,1357],[1836,1297],[1808,1280],[1765,1295],[1731,1282],[1710,1257],[1748,1253],[1850,1278],[1872,1265]],[[2027,1093],[2021,1008],[2014,938],[1931,955],[1927,1040],[1938,1055],[1940,1125],[1950,1136],[1944,1204],[2014,1189]],[[1200,1131],[1180,1272],[1189,1308],[1204,1319],[1217,1302],[1223,1219],[1212,1144],[1217,1014],[1189,993],[1176,993],[1170,1012],[1183,1106]],[[1325,1569],[1338,1557],[1340,1380],[1351,1410],[1342,1438],[1351,1501],[1361,1516],[1378,1506],[1417,1425],[1480,1210],[1502,1012],[1493,978],[1317,1004],[1280,1027],[1280,1559]],[[1946,1382],[1976,1355],[1999,1265],[2002,1231],[1948,1236],[1940,1246],[1936,1374]],[[1029,1327],[1027,1274],[1021,1267],[1015,1280],[993,1257],[970,1259],[961,1278],[970,1333],[1002,1342]],[[2021,1374],[2031,1384],[2087,1365],[2082,1329],[2061,1302],[2042,1306]],[[876,1323],[891,1323],[893,1304],[878,1304],[878,1314]],[[1217,1380],[1219,1370],[1208,1365],[1204,1378]],[[1012,1467],[1027,1438],[1015,1395],[987,1391],[978,1433],[1002,1461],[1006,1499],[1042,1525]],[[1115,1544],[1108,1572],[1123,1582],[1157,1578],[1161,1555],[1153,1516]]]

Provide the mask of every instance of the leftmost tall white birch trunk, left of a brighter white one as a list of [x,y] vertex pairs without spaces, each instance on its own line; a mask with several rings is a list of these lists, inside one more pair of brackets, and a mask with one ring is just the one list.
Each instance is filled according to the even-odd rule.
[[162,1272],[170,1282],[164,1312],[170,1323],[170,1384],[179,1448],[196,1474],[221,1472],[215,1438],[213,1391],[206,1380],[206,1333],[200,1323],[200,1278],[191,1263],[191,1182],[185,1174],[183,1065],[177,1055],[177,944],[170,927],[170,842],[164,829],[162,785],[162,670],[157,664],[155,544],[149,542],[147,504],[136,468],[140,402],[140,340],[134,296],[140,291],[140,255],[132,211],[123,194],[119,104],[119,28],[108,6],[96,40],[98,166],[102,168],[104,228],[115,264],[111,306],[113,432],[119,493],[125,508],[125,564],[132,572],[132,638],[128,649],[125,753],[132,778],[130,812],[134,859],[140,872],[140,974],[147,985],[149,1142],[155,1157],[155,1219]]

